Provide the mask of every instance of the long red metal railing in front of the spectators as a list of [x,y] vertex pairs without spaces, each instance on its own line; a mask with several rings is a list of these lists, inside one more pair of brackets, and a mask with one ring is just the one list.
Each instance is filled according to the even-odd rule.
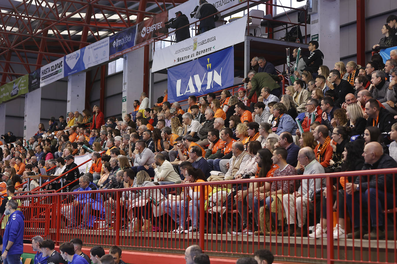
[[[29,219],[25,237],[44,234],[56,243],[81,237],[83,242],[88,244],[120,245],[128,249],[156,248],[157,251],[164,252],[181,252],[195,243],[208,253],[233,255],[251,254],[265,247],[274,255],[288,256],[290,260],[395,263],[396,173],[397,169],[394,168],[90,192],[33,194],[19,196],[17,199],[20,199],[23,205],[26,201],[33,201],[28,208],[22,207],[25,217]],[[350,194],[351,189],[345,190],[339,184],[335,184],[336,187],[333,188],[334,183],[351,182],[353,177],[359,177],[356,182],[361,186],[353,195]],[[368,180],[371,180],[372,185],[369,191],[366,191],[364,186]],[[264,186],[264,193],[269,191],[268,188],[272,184],[279,185],[280,189],[285,187],[287,191],[280,191],[282,196],[279,197],[274,196],[273,192],[270,197],[278,202],[271,205],[272,209],[261,209],[268,196],[262,194],[258,199],[255,198],[257,196],[253,184]],[[295,195],[299,186],[314,191],[314,188],[308,188],[311,186],[309,184],[319,189],[313,198]],[[325,192],[320,189],[324,187]],[[182,188],[185,188],[185,191],[181,192],[181,196],[185,197],[185,194],[189,193],[193,199],[186,201],[178,199],[177,196],[162,196],[165,190],[179,194]],[[206,199],[201,194],[212,192],[210,188],[216,189],[216,196],[212,195]],[[240,190],[241,192],[238,192]],[[243,190],[251,193],[246,197],[252,196],[252,200],[243,198]],[[256,204],[257,201],[261,202]],[[207,205],[206,208],[204,205]],[[219,206],[219,211],[213,205]],[[333,236],[335,216],[339,216],[336,232],[346,230],[336,239]],[[46,219],[48,224],[43,222],[43,219]],[[142,224],[150,224],[152,227],[142,228],[137,224],[140,220]],[[320,221],[324,227],[328,226],[321,238],[304,234]],[[71,222],[74,223],[71,230],[66,229],[65,226]],[[258,226],[259,231],[263,231],[264,234],[240,234],[245,227],[244,222]],[[85,223],[89,229],[77,229],[81,223]],[[179,225],[183,225],[185,230],[189,226],[195,226],[199,231],[186,234],[173,232]],[[376,232],[371,233],[370,237],[358,238],[372,230]],[[348,238],[349,232],[357,232],[357,237]]]

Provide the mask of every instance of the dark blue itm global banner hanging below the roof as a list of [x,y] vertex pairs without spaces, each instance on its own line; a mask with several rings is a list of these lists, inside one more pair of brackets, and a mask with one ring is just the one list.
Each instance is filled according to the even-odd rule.
[[137,27],[129,27],[109,37],[109,59],[131,51],[135,45]]

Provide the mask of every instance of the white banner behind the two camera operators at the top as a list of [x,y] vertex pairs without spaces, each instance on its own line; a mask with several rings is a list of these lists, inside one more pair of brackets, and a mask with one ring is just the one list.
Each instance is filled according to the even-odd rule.
[[[241,8],[247,8],[247,2],[245,0],[207,0],[208,3],[213,4],[218,11],[225,10],[226,11],[221,12],[221,16],[224,17],[228,15],[229,13],[233,13],[237,9]],[[235,6],[241,2],[245,2],[245,4],[241,4],[239,6],[236,6],[234,8],[231,8],[232,6]],[[171,19],[175,17],[175,13],[178,11],[181,11],[183,14],[185,14],[189,18],[189,24],[197,21],[198,19],[193,17],[190,17],[190,13],[193,12],[195,7],[198,6],[198,1],[197,0],[189,0],[187,2],[184,2],[180,5],[175,6],[174,8],[168,9],[168,19]],[[251,6],[251,4],[250,4]],[[200,22],[198,22],[200,23]],[[189,27],[193,27],[194,25],[191,25]],[[173,30],[172,28],[170,30]]]

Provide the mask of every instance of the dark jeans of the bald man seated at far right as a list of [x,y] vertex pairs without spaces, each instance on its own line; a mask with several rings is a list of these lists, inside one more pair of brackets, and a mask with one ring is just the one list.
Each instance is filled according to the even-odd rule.
[[[376,188],[369,188],[365,190],[365,192],[361,192],[362,199],[362,208],[368,208],[368,192],[370,193],[370,201],[369,201],[369,211],[371,216],[371,225],[372,226],[384,226],[384,213],[382,211],[385,207],[385,193],[378,189],[378,200],[376,200]],[[351,219],[353,219],[353,207],[352,207],[352,194],[346,194],[346,206],[349,211]],[[386,207],[393,206],[393,194],[386,193],[387,205]],[[354,194],[354,227],[360,228],[360,226],[366,226],[368,224],[366,222],[366,217],[362,217],[362,223],[360,223],[360,195],[358,191]],[[378,214],[376,213],[376,209],[378,208]],[[376,216],[378,215],[379,222],[376,222]]]

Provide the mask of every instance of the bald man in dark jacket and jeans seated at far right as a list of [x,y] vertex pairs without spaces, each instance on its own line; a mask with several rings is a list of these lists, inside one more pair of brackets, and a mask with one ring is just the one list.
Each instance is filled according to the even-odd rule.
[[[372,169],[388,169],[397,167],[396,161],[389,155],[383,153],[383,147],[378,142],[369,142],[364,147],[362,153],[364,157],[363,170]],[[386,186],[386,193],[384,192]],[[371,216],[372,230],[370,234],[365,234],[367,217],[362,218],[355,217],[354,219],[354,232],[347,235],[348,238],[360,238],[360,227],[362,226],[362,232],[365,234],[364,239],[377,238],[376,228],[378,228],[379,239],[385,238],[385,226],[384,226],[384,209],[390,209],[393,207],[393,175],[391,174],[380,174],[380,175],[363,175],[357,177],[354,183],[348,182],[345,185],[346,188],[346,205],[347,209],[352,216],[352,199],[354,199],[354,212],[357,215],[360,211],[360,191],[361,191],[361,206],[362,209],[369,208]],[[368,200],[369,193],[369,200]],[[354,197],[353,197],[354,196]],[[385,208],[385,197],[387,200],[387,206]],[[395,198],[394,198],[395,199]],[[369,203],[369,205],[368,205]]]

